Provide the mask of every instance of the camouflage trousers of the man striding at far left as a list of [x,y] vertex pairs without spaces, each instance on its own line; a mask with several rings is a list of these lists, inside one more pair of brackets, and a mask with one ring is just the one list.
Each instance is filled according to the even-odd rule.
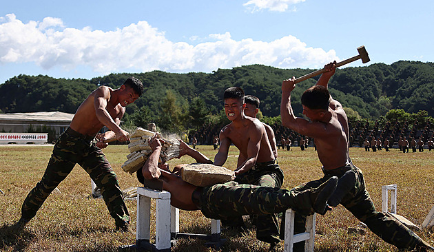
[[122,227],[125,222],[130,221],[116,174],[95,143],[93,137],[83,136],[70,128],[59,136],[41,181],[23,202],[22,218],[26,220],[33,218],[50,193],[70,174],[74,166],[79,164],[101,189],[107,209],[110,216],[114,218],[116,226]]

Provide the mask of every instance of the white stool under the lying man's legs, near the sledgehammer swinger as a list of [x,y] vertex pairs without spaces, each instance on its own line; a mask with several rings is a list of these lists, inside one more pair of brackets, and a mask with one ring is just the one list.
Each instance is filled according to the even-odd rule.
[[304,240],[306,241],[304,251],[313,252],[313,246],[315,245],[316,213],[307,216],[306,232],[296,235],[294,235],[294,217],[295,211],[292,209],[288,209],[285,212],[285,252],[292,252],[294,243]]

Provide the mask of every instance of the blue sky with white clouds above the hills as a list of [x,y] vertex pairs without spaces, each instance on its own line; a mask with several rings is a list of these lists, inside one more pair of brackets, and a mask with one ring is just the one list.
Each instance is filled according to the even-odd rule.
[[[434,1],[1,1],[0,84],[19,74],[212,72],[434,61]],[[360,61],[349,66],[363,65]]]

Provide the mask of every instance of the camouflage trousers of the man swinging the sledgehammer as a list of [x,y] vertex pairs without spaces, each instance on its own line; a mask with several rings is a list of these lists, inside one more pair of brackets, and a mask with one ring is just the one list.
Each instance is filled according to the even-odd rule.
[[[333,170],[323,169],[323,178],[307,182],[304,185],[295,187],[294,190],[304,191],[309,188],[318,187],[331,176],[341,178],[350,169],[355,173],[355,181],[350,183],[352,187],[342,198],[340,204],[353,213],[355,218],[364,222],[364,224],[366,224],[373,233],[382,238],[382,240],[397,246],[399,249],[412,248],[422,242],[419,236],[393,218],[389,213],[382,213],[375,210],[371,197],[368,191],[366,191],[362,171],[352,163]],[[296,213],[295,222],[294,233],[304,232],[306,216]],[[281,237],[283,237],[282,233],[281,229]],[[304,242],[294,244],[294,251],[304,251]]]

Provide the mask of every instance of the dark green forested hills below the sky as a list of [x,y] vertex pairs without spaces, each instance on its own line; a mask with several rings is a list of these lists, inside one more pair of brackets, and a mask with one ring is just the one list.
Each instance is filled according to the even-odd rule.
[[[218,114],[223,108],[224,90],[240,86],[246,94],[260,98],[260,110],[264,116],[278,116],[282,80],[312,71],[247,65],[230,70],[219,69],[211,74],[154,71],[110,74],[91,80],[19,75],[0,85],[0,110],[3,113],[74,113],[85,97],[99,85],[119,87],[127,77],[136,76],[143,81],[145,93],[136,103],[127,107],[127,114],[143,107],[142,110],[149,113],[148,116],[160,116],[163,101],[168,95],[176,98],[178,107],[192,106],[192,101],[199,105],[205,101],[208,112]],[[316,79],[310,79],[299,83],[293,91],[296,114],[301,113],[300,95],[315,82]],[[364,118],[378,118],[389,109],[404,109],[409,113],[426,110],[429,116],[434,116],[434,63],[398,61],[391,65],[377,63],[367,67],[338,69],[331,78],[329,89],[333,98]]]

